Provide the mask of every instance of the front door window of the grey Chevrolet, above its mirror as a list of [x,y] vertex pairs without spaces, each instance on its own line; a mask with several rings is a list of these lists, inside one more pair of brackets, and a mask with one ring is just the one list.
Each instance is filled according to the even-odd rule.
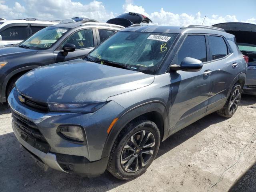
[[178,52],[178,64],[186,57],[206,62],[206,42],[204,35],[188,35]]

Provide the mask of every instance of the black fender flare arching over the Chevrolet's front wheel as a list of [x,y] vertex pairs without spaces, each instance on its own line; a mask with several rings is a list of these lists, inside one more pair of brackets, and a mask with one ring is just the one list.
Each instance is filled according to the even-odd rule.
[[166,105],[162,101],[146,102],[146,103],[137,105],[135,107],[131,107],[128,110],[125,110],[125,112],[120,115],[120,118],[118,119],[116,124],[114,124],[114,126],[112,127],[106,139],[101,157],[104,158],[110,155],[110,152],[116,140],[116,137],[118,136],[118,134],[121,132],[121,130],[124,128],[126,124],[128,124],[130,121],[132,121],[136,117],[146,114],[148,112],[158,112],[159,114],[161,114],[164,121],[162,141],[165,140],[168,137],[168,132],[169,132],[168,113],[167,113]]

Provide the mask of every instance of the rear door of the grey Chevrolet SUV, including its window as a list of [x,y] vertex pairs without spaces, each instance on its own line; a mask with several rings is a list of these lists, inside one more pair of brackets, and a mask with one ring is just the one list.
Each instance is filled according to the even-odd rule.
[[222,36],[208,35],[210,60],[213,67],[213,84],[208,110],[225,101],[230,86],[241,70],[239,60],[235,60],[226,39]]

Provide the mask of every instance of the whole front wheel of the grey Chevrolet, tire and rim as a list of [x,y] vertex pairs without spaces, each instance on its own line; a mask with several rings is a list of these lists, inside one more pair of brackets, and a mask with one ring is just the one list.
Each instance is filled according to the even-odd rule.
[[[141,146],[136,148],[134,142]],[[154,122],[144,118],[133,120],[118,134],[110,152],[107,170],[120,180],[138,177],[153,162],[159,145],[160,132]]]

